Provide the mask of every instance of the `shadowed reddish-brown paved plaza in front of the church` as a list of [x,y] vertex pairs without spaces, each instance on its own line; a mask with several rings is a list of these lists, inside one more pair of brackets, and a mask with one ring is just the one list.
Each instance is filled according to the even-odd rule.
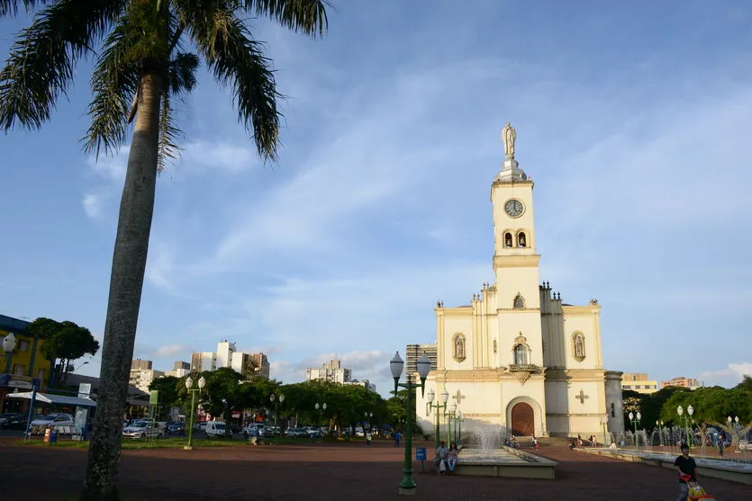
[[[0,442],[2,499],[75,500],[86,464],[84,449],[21,447]],[[430,443],[421,443],[430,448]],[[625,501],[675,499],[671,470],[614,461],[564,448],[541,455],[559,461],[556,480],[439,477],[429,463],[414,479],[424,500]],[[254,499],[351,501],[400,499],[403,449],[391,443],[305,443],[217,449],[126,451],[120,486],[123,501]],[[718,479],[702,484],[719,500],[750,499],[752,487]]]

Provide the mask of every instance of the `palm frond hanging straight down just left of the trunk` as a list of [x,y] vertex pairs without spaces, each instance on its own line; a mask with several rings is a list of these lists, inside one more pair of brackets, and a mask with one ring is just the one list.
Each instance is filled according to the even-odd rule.
[[139,66],[129,58],[132,39],[121,22],[104,40],[91,86],[94,99],[89,104],[91,125],[86,132],[84,149],[94,151],[104,146],[106,153],[114,153],[126,139],[128,109],[139,86]]

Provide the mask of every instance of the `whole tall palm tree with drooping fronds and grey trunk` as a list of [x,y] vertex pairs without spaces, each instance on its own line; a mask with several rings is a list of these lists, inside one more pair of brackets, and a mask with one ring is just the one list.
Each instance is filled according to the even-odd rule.
[[[36,12],[0,71],[0,128],[39,129],[76,63],[93,55],[86,151],[131,149],[122,190],[104,324],[101,386],[84,499],[118,499],[122,408],[139,318],[157,175],[177,157],[176,99],[196,84],[199,58],[231,88],[258,154],[275,160],[280,113],[271,61],[240,15],[311,37],[328,28],[326,0],[0,0],[0,18]],[[95,47],[101,49],[95,51]],[[186,49],[190,46],[195,52]]]

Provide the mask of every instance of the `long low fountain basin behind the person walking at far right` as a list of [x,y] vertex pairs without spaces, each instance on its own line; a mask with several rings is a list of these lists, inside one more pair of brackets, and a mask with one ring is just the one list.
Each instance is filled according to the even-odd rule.
[[[621,461],[639,462],[658,468],[674,469],[674,461],[678,454],[661,452],[633,451],[631,449],[603,449],[598,447],[577,447],[575,452],[585,452],[599,456],[611,457]],[[730,480],[740,484],[752,485],[752,464],[734,461],[713,460],[694,456],[697,463],[697,473],[701,477]]]

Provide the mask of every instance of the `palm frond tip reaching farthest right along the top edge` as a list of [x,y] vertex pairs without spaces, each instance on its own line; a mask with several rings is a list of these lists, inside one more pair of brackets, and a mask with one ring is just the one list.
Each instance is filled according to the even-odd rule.
[[271,17],[285,28],[322,37],[329,28],[326,0],[243,0],[242,8],[259,17]]

